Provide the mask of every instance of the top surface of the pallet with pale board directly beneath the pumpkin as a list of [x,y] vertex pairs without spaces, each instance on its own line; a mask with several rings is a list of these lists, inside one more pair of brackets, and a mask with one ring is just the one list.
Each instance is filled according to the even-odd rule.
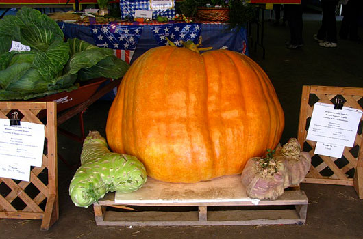
[[[296,192],[296,193],[294,193]],[[148,178],[142,188],[132,193],[109,193],[95,205],[138,206],[215,206],[254,205],[247,197],[240,175],[225,175],[220,178],[195,184],[161,182]],[[275,201],[262,200],[259,205],[303,204],[307,197],[303,191],[286,191]]]

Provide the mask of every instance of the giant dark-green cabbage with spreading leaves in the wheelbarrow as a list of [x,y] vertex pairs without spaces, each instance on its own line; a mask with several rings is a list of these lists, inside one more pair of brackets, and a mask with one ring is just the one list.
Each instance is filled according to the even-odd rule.
[[[12,41],[30,51],[10,51]],[[62,29],[38,10],[21,8],[0,20],[0,100],[28,100],[79,87],[98,77],[118,79],[128,64],[112,49],[64,42]]]

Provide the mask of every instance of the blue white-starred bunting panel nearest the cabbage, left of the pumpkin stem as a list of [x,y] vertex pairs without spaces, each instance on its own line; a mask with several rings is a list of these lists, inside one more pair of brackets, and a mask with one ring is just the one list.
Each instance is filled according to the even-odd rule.
[[142,29],[142,26],[114,24],[90,26],[96,46],[132,51],[136,49]]

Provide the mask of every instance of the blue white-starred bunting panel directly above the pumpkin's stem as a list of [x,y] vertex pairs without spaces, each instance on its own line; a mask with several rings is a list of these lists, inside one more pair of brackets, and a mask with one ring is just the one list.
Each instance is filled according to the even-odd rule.
[[198,43],[201,35],[201,24],[174,23],[165,25],[150,26],[158,46],[166,46],[168,40],[171,40],[175,46],[182,46],[182,42],[192,40],[195,44]]

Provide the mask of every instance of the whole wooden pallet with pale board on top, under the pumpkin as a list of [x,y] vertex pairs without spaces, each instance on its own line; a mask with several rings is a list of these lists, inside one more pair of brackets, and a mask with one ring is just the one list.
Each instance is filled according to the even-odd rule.
[[108,193],[94,209],[97,225],[302,224],[308,198],[303,191],[285,191],[275,201],[255,201],[247,197],[240,175],[195,184],[148,178],[133,193]]

